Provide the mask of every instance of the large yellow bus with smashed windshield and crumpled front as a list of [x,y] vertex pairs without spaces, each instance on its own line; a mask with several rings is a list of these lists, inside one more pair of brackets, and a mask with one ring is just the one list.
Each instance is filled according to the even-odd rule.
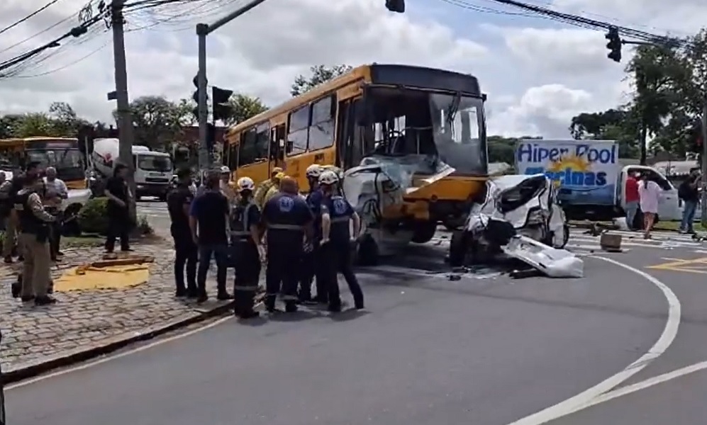
[[[419,166],[403,199],[413,242],[453,226],[488,178],[484,101],[469,74],[398,64],[369,64],[292,98],[228,130],[225,164],[256,183],[282,166],[301,188],[311,164],[341,169],[364,157],[413,157]],[[440,164],[454,172],[430,183]]]

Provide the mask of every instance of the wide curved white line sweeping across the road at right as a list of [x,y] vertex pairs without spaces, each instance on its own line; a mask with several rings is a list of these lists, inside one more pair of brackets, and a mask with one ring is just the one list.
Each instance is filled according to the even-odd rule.
[[630,365],[626,366],[623,370],[615,375],[612,375],[606,380],[599,382],[599,384],[594,385],[594,387],[580,392],[574,397],[564,400],[563,402],[557,403],[554,406],[547,407],[540,412],[526,416],[523,419],[518,419],[518,421],[512,422],[509,425],[540,425],[546,424],[547,422],[554,421],[563,416],[567,416],[574,412],[578,412],[585,407],[588,407],[591,402],[600,397],[601,395],[613,390],[618,385],[620,385],[628,378],[632,377],[636,373],[640,372],[643,368],[649,365],[656,358],[662,356],[663,353],[671,346],[675,336],[677,336],[678,329],[680,327],[681,321],[681,304],[678,297],[673,293],[673,291],[662,283],[657,278],[651,276],[644,271],[638,270],[638,268],[633,268],[627,266],[624,263],[620,263],[613,259],[608,259],[605,257],[596,256],[596,259],[602,261],[607,261],[609,263],[616,264],[616,266],[623,267],[628,271],[636,273],[638,276],[642,276],[650,283],[655,285],[659,290],[662,291],[663,296],[668,302],[668,319],[665,322],[665,327],[660,335],[659,339],[655,341],[655,344],[645,353],[640,356],[638,360],[634,361]]

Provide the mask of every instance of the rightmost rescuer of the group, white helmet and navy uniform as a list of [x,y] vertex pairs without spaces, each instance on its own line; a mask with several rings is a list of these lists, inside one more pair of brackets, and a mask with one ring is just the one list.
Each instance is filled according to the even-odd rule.
[[[323,263],[328,266],[327,280],[329,285],[329,311],[341,311],[341,297],[337,274],[341,273],[349,285],[357,310],[364,307],[363,292],[353,273],[351,261],[351,244],[355,243],[361,230],[361,219],[351,204],[335,193],[339,177],[334,171],[324,171],[319,176],[319,184],[324,193],[321,205],[322,240],[321,252]],[[349,222],[353,220],[353,237]]]

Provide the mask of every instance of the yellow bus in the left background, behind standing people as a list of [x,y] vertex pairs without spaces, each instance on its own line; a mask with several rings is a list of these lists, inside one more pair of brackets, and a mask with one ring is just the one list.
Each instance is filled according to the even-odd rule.
[[0,157],[11,168],[23,169],[30,162],[53,166],[69,189],[87,188],[84,157],[79,140],[64,137],[25,137],[0,140]]

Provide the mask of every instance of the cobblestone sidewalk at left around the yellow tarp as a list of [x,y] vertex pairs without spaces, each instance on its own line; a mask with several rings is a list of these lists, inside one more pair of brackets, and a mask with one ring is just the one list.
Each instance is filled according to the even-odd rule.
[[[66,268],[97,261],[103,256],[103,250],[98,247],[65,249],[64,252],[63,261],[52,267],[55,278]],[[16,280],[21,266],[1,265],[2,370],[8,373],[57,361],[148,330],[189,321],[228,304],[216,301],[215,282],[209,283],[213,288],[208,288],[213,298],[201,305],[177,300],[172,273],[174,251],[168,246],[136,245],[135,254],[155,258],[147,283],[116,290],[57,292],[55,297],[59,302],[43,307],[33,303],[23,305],[13,299],[11,283]],[[233,282],[232,277],[230,282]]]

